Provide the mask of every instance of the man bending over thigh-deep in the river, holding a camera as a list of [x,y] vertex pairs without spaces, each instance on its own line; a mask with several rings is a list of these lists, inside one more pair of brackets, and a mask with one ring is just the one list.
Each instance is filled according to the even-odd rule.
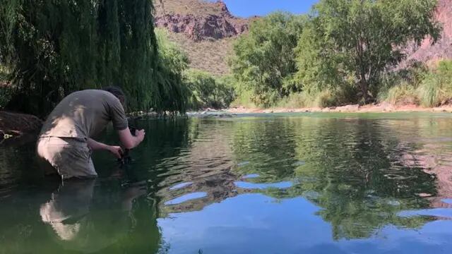
[[82,90],[65,97],[49,114],[37,141],[37,155],[47,164],[46,174],[51,173],[51,169],[57,171],[62,179],[96,177],[92,150],[107,150],[121,158],[121,147],[92,139],[109,121],[112,121],[124,148],[132,149],[139,145],[145,131],[131,135],[124,104],[124,92],[119,87]]

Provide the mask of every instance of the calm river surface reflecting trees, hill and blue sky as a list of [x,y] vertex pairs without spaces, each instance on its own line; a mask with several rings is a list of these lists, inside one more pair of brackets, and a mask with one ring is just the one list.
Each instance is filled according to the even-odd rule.
[[[452,115],[143,120],[95,181],[0,145],[0,253],[450,253]],[[100,137],[117,142],[113,131]]]

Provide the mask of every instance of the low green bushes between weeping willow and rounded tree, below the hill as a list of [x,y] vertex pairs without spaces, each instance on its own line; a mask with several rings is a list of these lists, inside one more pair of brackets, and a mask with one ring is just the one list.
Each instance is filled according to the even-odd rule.
[[205,71],[189,69],[184,73],[184,83],[190,91],[189,108],[228,107],[234,99],[231,82],[230,77],[215,78]]

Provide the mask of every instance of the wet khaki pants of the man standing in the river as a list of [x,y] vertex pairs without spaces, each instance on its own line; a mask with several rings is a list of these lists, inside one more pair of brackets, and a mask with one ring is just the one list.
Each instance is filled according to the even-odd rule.
[[94,178],[97,173],[88,144],[76,138],[44,137],[37,140],[37,155],[46,174],[58,172],[62,179]]

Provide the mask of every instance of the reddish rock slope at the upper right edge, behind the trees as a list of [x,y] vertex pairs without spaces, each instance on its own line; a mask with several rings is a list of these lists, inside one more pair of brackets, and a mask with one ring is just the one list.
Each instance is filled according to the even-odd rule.
[[407,59],[402,65],[412,61],[429,63],[439,59],[452,59],[452,0],[438,1],[435,19],[443,25],[441,39],[433,45],[430,39],[426,39],[419,47],[408,49]]

